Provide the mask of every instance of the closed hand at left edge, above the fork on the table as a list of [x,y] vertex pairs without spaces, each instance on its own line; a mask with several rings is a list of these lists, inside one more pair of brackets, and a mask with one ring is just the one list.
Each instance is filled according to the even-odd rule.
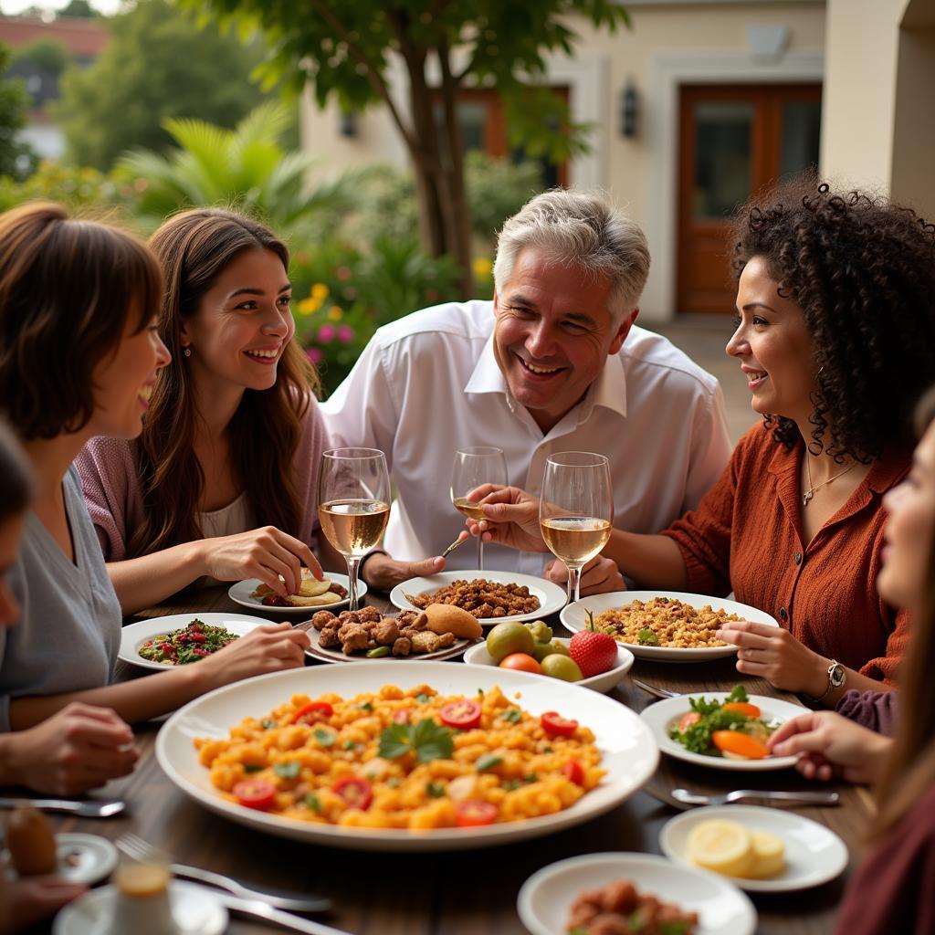
[[73,701],[35,727],[7,734],[4,781],[77,796],[133,771],[133,731],[115,712]]

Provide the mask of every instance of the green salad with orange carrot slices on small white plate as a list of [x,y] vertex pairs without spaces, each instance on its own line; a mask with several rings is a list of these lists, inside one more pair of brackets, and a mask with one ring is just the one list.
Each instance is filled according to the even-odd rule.
[[693,754],[727,759],[762,759],[769,756],[767,741],[779,726],[763,718],[750,703],[743,685],[735,685],[723,701],[689,698],[690,710],[669,737]]

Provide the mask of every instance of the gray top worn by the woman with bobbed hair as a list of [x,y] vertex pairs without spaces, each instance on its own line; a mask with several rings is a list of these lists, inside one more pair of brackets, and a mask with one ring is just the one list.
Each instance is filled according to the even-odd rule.
[[0,630],[0,730],[9,730],[11,697],[100,688],[113,678],[120,603],[75,468],[69,468],[62,490],[75,561],[68,561],[30,511],[9,572],[22,613],[16,626]]

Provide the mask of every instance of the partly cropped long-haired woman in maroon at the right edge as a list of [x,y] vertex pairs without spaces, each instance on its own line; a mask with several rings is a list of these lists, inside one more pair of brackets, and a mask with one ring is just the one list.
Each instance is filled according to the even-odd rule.
[[905,482],[885,498],[880,593],[910,611],[911,652],[899,678],[891,740],[832,712],[802,714],[770,739],[778,755],[802,754],[798,770],[876,785],[873,850],[845,896],[839,935],[935,931],[935,391],[918,410],[928,426]]

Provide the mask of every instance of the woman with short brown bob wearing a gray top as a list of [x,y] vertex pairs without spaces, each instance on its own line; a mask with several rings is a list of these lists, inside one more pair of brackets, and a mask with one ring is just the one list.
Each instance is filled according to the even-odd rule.
[[35,726],[72,701],[141,720],[302,665],[305,635],[263,626],[198,666],[111,684],[121,607],[71,463],[94,436],[142,429],[169,362],[156,328],[162,296],[159,264],[136,237],[52,204],[0,217],[0,412],[36,486],[8,572],[20,611],[0,642],[0,730]]

